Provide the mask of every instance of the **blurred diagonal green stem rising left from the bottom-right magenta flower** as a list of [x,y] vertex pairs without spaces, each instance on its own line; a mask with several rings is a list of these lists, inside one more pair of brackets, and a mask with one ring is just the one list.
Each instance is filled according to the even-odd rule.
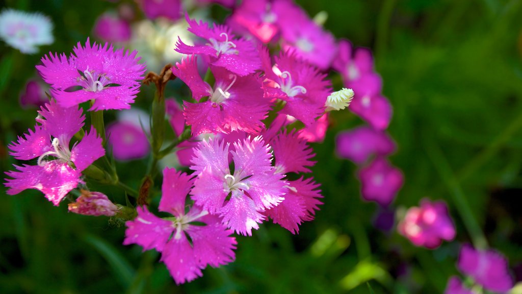
[[449,194],[453,198],[455,208],[460,214],[462,221],[464,221],[464,225],[471,237],[471,241],[473,242],[474,247],[478,249],[487,248],[488,241],[486,240],[478,221],[473,216],[473,212],[471,211],[468,200],[462,192],[462,188],[460,187],[460,184],[455,177],[451,166],[446,160],[446,157],[444,157],[444,154],[438,145],[436,145],[434,140],[424,138],[423,141],[425,144],[424,148],[426,149],[426,152],[428,152],[428,156],[430,156],[433,165],[435,165],[437,172],[442,177],[449,190]]

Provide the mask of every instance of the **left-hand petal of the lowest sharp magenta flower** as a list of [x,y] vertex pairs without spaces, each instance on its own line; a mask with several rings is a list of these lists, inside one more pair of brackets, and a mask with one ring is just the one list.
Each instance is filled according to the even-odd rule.
[[149,212],[147,207],[137,207],[138,216],[125,222],[125,240],[123,245],[138,244],[143,250],[155,248],[163,251],[163,248],[174,231],[171,221],[163,220]]

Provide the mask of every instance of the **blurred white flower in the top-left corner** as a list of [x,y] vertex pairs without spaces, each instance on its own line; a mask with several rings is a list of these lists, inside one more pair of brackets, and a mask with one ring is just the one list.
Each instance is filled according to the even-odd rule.
[[0,39],[22,53],[36,53],[38,46],[54,42],[53,23],[40,13],[4,9],[0,13]]

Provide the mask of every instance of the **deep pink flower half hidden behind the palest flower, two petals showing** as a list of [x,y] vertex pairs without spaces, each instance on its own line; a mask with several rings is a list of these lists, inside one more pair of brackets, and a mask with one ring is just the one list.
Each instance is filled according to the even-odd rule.
[[[276,171],[280,174],[310,173],[309,167],[315,162],[310,159],[315,155],[304,139],[300,139],[295,131],[283,131],[270,141],[276,160]],[[314,219],[315,210],[322,202],[321,190],[313,178],[288,180],[284,200],[279,205],[265,211],[265,216],[274,223],[289,230],[292,234],[299,233],[299,225],[304,221]]]

